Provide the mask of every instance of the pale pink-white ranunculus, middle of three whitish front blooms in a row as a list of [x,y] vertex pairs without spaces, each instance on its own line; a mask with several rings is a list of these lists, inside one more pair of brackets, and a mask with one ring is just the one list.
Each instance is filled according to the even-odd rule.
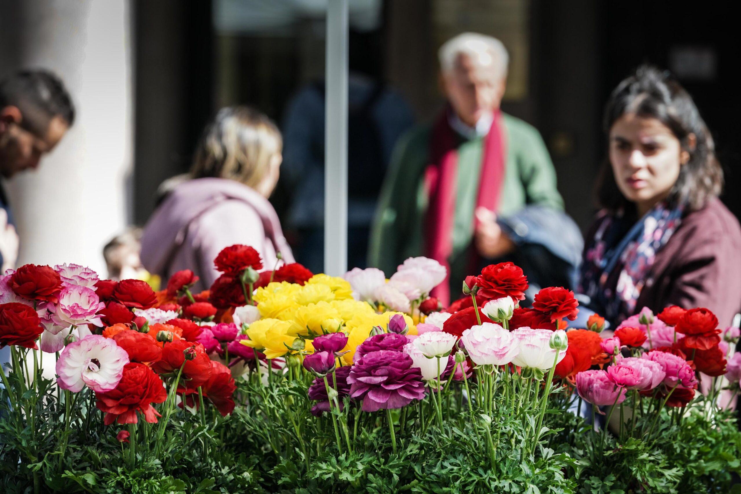
[[[509,364],[519,353],[519,339],[516,335],[492,322],[465,330],[461,341],[471,361],[476,365]],[[545,340],[545,346],[548,347],[548,340]]]

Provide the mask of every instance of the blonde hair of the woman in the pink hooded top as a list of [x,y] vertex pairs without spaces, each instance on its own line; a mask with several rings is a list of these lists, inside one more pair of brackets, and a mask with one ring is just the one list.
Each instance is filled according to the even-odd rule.
[[203,133],[190,175],[218,177],[256,187],[282,152],[283,139],[273,121],[250,107],[226,107]]

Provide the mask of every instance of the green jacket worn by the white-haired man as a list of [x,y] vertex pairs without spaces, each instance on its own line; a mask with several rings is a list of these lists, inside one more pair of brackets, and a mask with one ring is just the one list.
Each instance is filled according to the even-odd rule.
[[[561,210],[556,173],[548,150],[535,127],[502,113],[507,161],[497,214],[507,216],[526,204]],[[425,169],[429,164],[431,126],[411,130],[399,139],[385,178],[371,230],[368,265],[387,276],[406,258],[424,256],[424,224],[428,207]],[[468,250],[473,239],[473,215],[479,188],[483,137],[459,146],[456,212],[453,221],[451,286],[457,293],[468,274]]]

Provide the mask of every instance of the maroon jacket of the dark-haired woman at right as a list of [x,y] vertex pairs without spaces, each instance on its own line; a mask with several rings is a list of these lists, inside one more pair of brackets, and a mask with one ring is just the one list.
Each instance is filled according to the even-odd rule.
[[636,307],[668,305],[707,307],[720,327],[741,312],[741,227],[718,198],[685,216],[656,254]]

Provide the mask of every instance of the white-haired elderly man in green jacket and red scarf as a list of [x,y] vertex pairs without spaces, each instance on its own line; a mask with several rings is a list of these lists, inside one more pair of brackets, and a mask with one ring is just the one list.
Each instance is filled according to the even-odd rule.
[[[410,256],[436,259],[450,273],[434,293],[443,304],[495,261],[517,261],[536,281],[569,286],[576,276],[581,237],[560,212],[548,150],[534,127],[499,110],[508,59],[491,36],[464,33],[442,45],[448,104],[396,144],[379,198],[369,264],[393,273]],[[548,238],[544,223],[565,228],[568,248],[551,245],[562,233]],[[554,266],[555,278],[540,276]]]

